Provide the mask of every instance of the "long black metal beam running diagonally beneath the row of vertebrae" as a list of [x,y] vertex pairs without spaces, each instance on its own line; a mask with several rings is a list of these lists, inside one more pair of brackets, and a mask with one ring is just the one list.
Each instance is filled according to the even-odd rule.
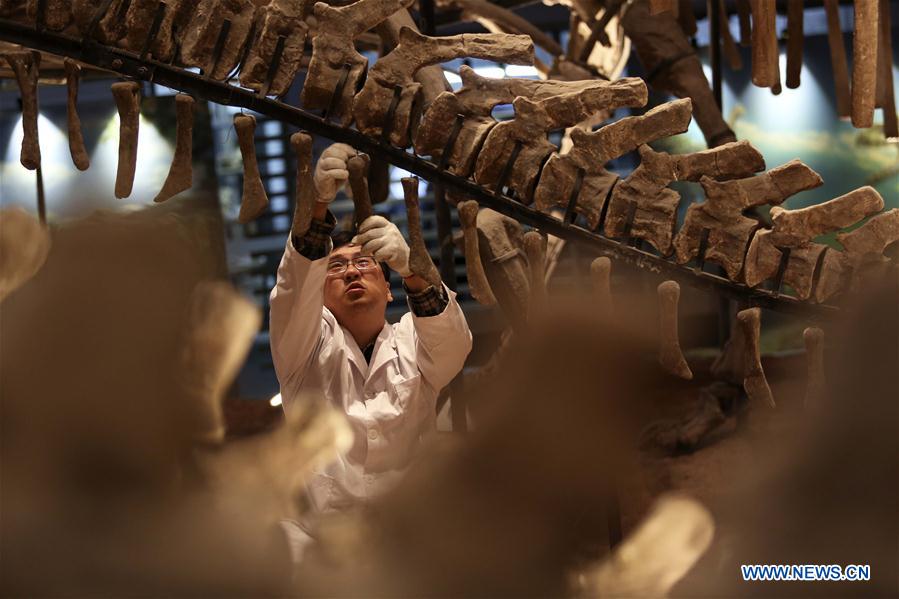
[[577,224],[559,220],[525,206],[502,195],[501,190],[493,192],[485,189],[470,179],[454,175],[433,162],[391,146],[384,140],[368,137],[355,129],[333,123],[325,117],[290,106],[277,99],[260,97],[252,90],[215,81],[157,60],[141,58],[138,54],[126,50],[58,33],[39,32],[35,28],[4,19],[0,19],[0,39],[42,52],[73,58],[99,69],[113,71],[123,77],[150,81],[217,104],[239,106],[290,123],[312,134],[352,145],[423,179],[450,187],[477,200],[481,206],[537,227],[544,233],[588,246],[599,254],[642,270],[736,299],[741,305],[790,313],[811,321],[826,320],[838,312],[837,308],[831,305],[804,302],[769,290],[752,289],[718,275],[676,264],[655,254],[629,247],[626,244],[627,240],[625,243],[613,241]]

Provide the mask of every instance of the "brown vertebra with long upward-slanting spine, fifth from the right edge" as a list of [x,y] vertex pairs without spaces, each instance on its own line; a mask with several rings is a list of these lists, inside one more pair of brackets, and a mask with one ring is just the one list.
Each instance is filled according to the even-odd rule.
[[554,206],[567,208],[580,169],[583,175],[575,211],[595,229],[608,191],[618,180],[617,175],[604,168],[605,164],[642,144],[686,131],[691,104],[689,98],[666,102],[642,116],[620,119],[593,133],[572,129],[571,150],[567,154],[553,154],[543,167],[534,191],[537,209],[547,212]]

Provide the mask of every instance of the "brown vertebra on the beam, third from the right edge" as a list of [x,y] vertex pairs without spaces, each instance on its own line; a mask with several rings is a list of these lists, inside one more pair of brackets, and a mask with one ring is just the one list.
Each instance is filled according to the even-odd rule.
[[743,211],[763,204],[780,204],[795,193],[818,187],[822,181],[818,173],[799,160],[792,160],[755,177],[723,182],[702,177],[700,183],[707,199],[687,208],[684,224],[674,239],[677,261],[689,262],[706,245],[703,259],[721,265],[727,276],[736,281],[750,238],[759,226]]

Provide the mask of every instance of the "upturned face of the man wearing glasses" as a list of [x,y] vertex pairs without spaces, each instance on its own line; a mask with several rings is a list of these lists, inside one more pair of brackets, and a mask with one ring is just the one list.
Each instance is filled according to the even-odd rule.
[[[334,314],[337,322],[342,323],[359,311],[371,311],[383,318],[387,303],[393,299],[381,266],[372,256],[365,256],[370,259],[371,268],[360,270],[353,263],[362,256],[361,248],[353,244],[341,246],[328,256],[325,307]],[[335,272],[340,270],[337,268],[340,265],[345,265],[346,270]]]

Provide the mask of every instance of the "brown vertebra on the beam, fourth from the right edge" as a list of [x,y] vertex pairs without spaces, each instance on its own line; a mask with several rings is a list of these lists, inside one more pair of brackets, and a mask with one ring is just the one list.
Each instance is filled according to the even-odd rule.
[[671,252],[680,194],[667,185],[672,181],[715,180],[750,175],[765,168],[762,155],[746,141],[711,150],[668,155],[641,146],[640,166],[612,190],[605,233],[650,242],[663,255]]

